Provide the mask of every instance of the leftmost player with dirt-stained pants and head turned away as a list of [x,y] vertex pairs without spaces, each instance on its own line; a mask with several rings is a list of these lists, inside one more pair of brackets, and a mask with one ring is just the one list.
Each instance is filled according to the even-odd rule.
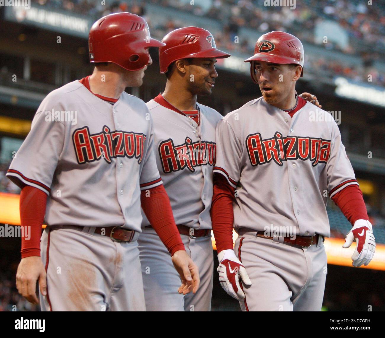
[[143,101],[124,92],[142,85],[152,63],[148,48],[163,45],[137,15],[95,22],[94,73],[47,95],[10,165],[7,176],[22,188],[21,224],[31,227],[31,239],[22,238],[17,288],[37,303],[39,279],[42,310],[145,310],[141,206],[172,255],[181,292],[198,289],[198,269],[156,167],[151,116]]

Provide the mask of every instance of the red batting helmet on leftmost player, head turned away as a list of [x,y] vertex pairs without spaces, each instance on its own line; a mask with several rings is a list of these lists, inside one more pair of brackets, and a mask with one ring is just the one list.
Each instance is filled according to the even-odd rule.
[[164,46],[152,39],[146,20],[136,14],[115,13],[100,18],[89,33],[90,62],[113,62],[127,70],[148,64],[147,48]]

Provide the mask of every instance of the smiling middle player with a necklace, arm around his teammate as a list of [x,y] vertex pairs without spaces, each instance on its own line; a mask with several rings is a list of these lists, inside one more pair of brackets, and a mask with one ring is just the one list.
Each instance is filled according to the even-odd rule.
[[[154,121],[156,162],[171,201],[187,253],[198,265],[197,293],[175,292],[179,277],[169,252],[143,215],[139,237],[146,308],[150,311],[210,311],[213,290],[213,247],[210,207],[213,196],[215,129],[222,116],[197,103],[210,95],[218,73],[215,62],[230,55],[216,48],[213,35],[198,27],[167,34],[159,49],[166,89],[147,102]],[[310,100],[311,94],[305,95]],[[317,102],[318,103],[318,102]]]

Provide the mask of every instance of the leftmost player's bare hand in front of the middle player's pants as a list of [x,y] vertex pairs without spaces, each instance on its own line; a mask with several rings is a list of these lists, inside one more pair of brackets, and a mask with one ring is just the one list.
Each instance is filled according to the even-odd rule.
[[184,295],[191,291],[196,293],[200,283],[199,270],[190,256],[187,255],[186,251],[178,250],[172,255],[171,259],[182,281],[178,292]]

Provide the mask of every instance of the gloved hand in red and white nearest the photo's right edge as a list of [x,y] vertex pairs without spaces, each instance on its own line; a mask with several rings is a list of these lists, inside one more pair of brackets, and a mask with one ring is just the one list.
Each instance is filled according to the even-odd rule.
[[356,242],[356,249],[352,255],[353,267],[368,265],[374,256],[376,242],[373,235],[372,224],[368,220],[356,220],[352,230],[348,232],[345,238],[343,248],[348,248],[353,241]]

